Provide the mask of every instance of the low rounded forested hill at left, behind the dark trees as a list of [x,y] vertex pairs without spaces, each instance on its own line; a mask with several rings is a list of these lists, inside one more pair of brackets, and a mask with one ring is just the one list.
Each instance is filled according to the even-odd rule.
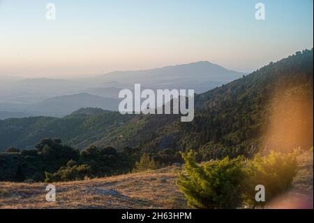
[[82,149],[129,119],[129,115],[118,112],[85,108],[63,118],[0,120],[0,151],[5,151],[11,145],[20,149],[33,148],[42,138],[61,138],[67,145]]

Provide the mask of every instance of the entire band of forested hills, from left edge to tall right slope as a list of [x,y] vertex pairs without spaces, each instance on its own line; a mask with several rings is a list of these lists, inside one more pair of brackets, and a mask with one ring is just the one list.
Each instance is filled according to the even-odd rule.
[[264,148],[309,148],[313,145],[313,49],[197,94],[193,122],[180,122],[177,115],[114,112],[0,121],[1,150],[10,145],[31,148],[45,137],[61,138],[79,149],[89,144],[130,146],[147,152],[169,149],[171,155],[193,148],[203,159],[251,156]]

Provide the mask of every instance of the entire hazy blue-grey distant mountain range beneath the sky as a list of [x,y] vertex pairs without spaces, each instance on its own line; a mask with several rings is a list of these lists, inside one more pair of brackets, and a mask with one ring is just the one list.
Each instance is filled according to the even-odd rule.
[[210,62],[195,62],[68,80],[3,77],[0,85],[0,111],[3,115],[0,119],[33,115],[62,117],[82,107],[117,110],[121,101],[117,101],[120,90],[132,90],[135,83],[140,83],[143,89],[194,89],[195,93],[202,93],[242,75],[244,73]]

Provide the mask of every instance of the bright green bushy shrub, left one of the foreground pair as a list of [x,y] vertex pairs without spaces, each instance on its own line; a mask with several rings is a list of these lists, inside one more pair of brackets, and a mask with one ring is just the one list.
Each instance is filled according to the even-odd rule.
[[195,152],[182,153],[186,161],[177,185],[193,208],[237,208],[242,203],[246,169],[243,158],[197,164]]

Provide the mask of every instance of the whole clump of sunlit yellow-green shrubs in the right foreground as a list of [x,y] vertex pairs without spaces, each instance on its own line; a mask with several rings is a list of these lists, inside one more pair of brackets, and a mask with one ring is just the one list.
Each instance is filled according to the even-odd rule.
[[[290,188],[296,171],[296,153],[271,152],[251,160],[243,157],[197,164],[195,152],[182,153],[186,164],[177,184],[193,208],[264,206]],[[265,202],[255,202],[256,185],[264,185]]]

